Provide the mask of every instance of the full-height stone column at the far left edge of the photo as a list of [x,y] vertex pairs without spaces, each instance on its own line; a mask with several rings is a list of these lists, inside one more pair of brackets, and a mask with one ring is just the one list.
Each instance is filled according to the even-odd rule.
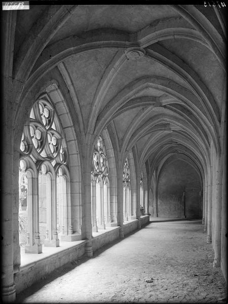
[[[14,104],[17,100],[12,97],[12,93],[16,94],[15,88],[12,84],[12,64],[14,53],[14,33],[16,28],[16,11],[7,11],[2,14],[2,74],[4,78],[4,99],[1,100],[1,113],[4,120],[1,120],[2,130],[2,170],[1,170],[1,215],[2,215],[2,301],[5,303],[12,303],[16,297],[16,290],[14,284],[14,246],[13,246],[13,185],[14,174],[18,175],[18,164],[14,166],[13,144],[12,137],[13,130],[19,126],[12,123],[12,118],[15,116]],[[1,76],[2,76],[1,74]],[[15,81],[16,82],[16,81]],[[20,84],[19,84],[20,83]],[[18,81],[18,92],[22,88],[22,83]],[[16,169],[16,172],[14,171]],[[18,189],[18,184],[17,184]],[[15,196],[16,197],[16,196]],[[18,205],[17,202],[15,204]],[[17,217],[18,220],[18,217]],[[18,226],[18,223],[17,223]],[[18,235],[17,235],[18,237]],[[18,246],[17,246],[18,250]],[[18,252],[19,254],[19,252]]]

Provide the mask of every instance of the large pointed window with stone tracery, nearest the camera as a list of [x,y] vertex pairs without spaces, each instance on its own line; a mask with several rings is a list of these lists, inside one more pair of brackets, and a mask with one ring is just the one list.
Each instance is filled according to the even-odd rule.
[[25,244],[29,253],[41,253],[42,243],[59,246],[58,233],[63,240],[72,234],[67,146],[55,109],[45,98],[34,103],[20,144],[19,176],[31,172]]

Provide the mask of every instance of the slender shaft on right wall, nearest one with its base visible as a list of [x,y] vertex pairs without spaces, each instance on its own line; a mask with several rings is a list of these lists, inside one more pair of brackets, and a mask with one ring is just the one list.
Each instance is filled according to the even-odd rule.
[[221,200],[222,200],[222,162],[218,160],[216,171],[216,203],[214,214],[214,267],[220,267],[221,262]]

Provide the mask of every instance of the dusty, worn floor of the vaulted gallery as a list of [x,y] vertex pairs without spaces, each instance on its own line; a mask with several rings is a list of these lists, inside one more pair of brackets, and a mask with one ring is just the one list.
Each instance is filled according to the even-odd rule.
[[17,303],[227,303],[199,220],[151,218],[143,229],[68,263]]

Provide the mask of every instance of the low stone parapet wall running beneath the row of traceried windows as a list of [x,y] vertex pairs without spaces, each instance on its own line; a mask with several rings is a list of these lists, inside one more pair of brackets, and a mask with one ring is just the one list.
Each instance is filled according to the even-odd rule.
[[[141,216],[141,226],[149,222],[149,216]],[[138,220],[124,222],[124,236],[137,230]],[[97,249],[119,239],[120,227],[107,227],[103,231],[93,233],[92,246],[93,252]],[[60,246],[44,247],[43,253],[25,254],[21,258],[19,272],[15,274],[16,293],[18,294],[33,283],[44,279],[52,271],[66,264],[77,260],[85,254],[86,241],[60,242]]]

